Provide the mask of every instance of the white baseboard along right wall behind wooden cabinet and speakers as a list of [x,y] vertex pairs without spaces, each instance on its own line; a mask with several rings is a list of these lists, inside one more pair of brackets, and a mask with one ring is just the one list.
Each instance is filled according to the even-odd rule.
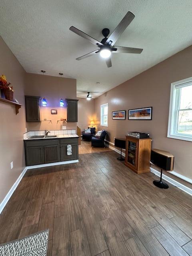
[[[105,140],[105,141],[108,142],[108,143],[110,143],[110,144],[114,144],[114,143],[109,142],[109,141],[107,141],[107,140]],[[120,150],[114,148],[113,146],[110,146],[109,144],[106,144],[106,143],[105,143],[105,146],[107,146],[108,148],[111,148],[112,150],[114,150],[114,151],[116,151],[117,153],[121,154]],[[122,156],[125,156],[125,153],[122,153]],[[161,174],[161,173],[160,173],[159,171],[155,170],[155,169],[152,168],[152,167],[150,167],[150,170],[151,170],[151,172],[153,172],[154,174],[156,174],[157,176],[160,177],[160,174]],[[186,178],[185,176],[182,176],[182,175],[180,175],[180,174],[178,174],[178,173],[176,173],[176,172],[174,172],[174,173],[176,173],[176,174],[174,174],[173,172],[170,172],[170,173],[172,173],[173,175],[178,176],[179,178],[184,177],[183,180],[186,180],[186,181],[192,183],[192,180]],[[181,184],[180,182],[178,182],[178,181],[176,181],[176,180],[174,180],[174,179],[172,179],[172,178],[166,176],[165,174],[162,174],[162,178],[163,178],[164,180],[168,181],[169,183],[171,183],[172,185],[174,185],[174,186],[180,188],[180,189],[183,190],[184,192],[186,192],[186,193],[192,195],[192,189],[191,189],[191,188],[188,188],[187,186],[185,186],[185,185]],[[190,180],[190,181],[189,181],[189,180]]]

